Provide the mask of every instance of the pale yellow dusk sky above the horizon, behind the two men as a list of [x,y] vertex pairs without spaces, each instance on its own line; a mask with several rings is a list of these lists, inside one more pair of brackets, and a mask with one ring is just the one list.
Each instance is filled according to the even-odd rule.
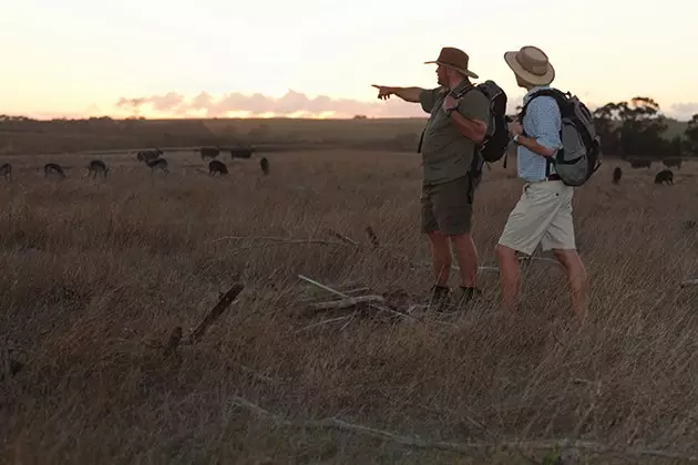
[[[528,7],[526,7],[526,4]],[[535,7],[533,7],[535,4]],[[425,116],[371,84],[435,86],[442,46],[521,102],[502,55],[542,48],[589,106],[698,113],[698,2],[22,0],[0,8],[0,113],[34,117]]]

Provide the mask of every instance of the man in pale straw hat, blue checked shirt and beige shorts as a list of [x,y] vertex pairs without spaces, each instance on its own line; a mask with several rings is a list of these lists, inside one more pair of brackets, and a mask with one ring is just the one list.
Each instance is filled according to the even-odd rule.
[[[553,250],[563,265],[572,288],[572,304],[577,317],[586,317],[586,271],[577,254],[572,221],[574,188],[565,185],[548,165],[548,157],[563,147],[562,117],[554,97],[532,94],[551,89],[555,69],[547,55],[536,46],[523,46],[504,54],[506,64],[516,76],[519,86],[527,92],[523,102],[526,111],[522,122],[510,123],[517,145],[519,177],[524,180],[523,194],[504,226],[495,247],[500,265],[504,307],[515,311],[519,293],[516,250],[532,255],[538,244]],[[548,168],[546,172],[546,167]]]

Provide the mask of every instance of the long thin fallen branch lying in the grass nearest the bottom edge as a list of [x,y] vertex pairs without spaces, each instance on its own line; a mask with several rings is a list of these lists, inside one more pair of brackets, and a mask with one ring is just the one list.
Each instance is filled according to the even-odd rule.
[[451,443],[444,441],[430,441],[419,436],[403,436],[400,434],[391,433],[384,430],[378,430],[370,426],[363,426],[360,424],[348,423],[336,417],[322,418],[322,420],[309,420],[294,422],[281,417],[275,413],[261,409],[246,399],[234,396],[233,402],[248,411],[256,413],[257,415],[270,418],[276,425],[279,426],[295,426],[304,428],[333,428],[349,433],[365,434],[372,437],[378,437],[384,441],[392,441],[393,443],[417,447],[417,448],[433,448],[449,452],[458,452],[461,454],[472,454],[476,451],[504,447],[519,452],[519,450],[528,451],[551,451],[557,448],[578,450],[589,452],[594,454],[617,454],[623,456],[653,456],[660,458],[678,458],[686,462],[697,462],[698,455],[688,455],[675,452],[628,448],[622,450],[605,444],[599,444],[591,441],[568,441],[568,440],[551,440],[551,441],[493,441],[493,442],[469,442],[469,443]]

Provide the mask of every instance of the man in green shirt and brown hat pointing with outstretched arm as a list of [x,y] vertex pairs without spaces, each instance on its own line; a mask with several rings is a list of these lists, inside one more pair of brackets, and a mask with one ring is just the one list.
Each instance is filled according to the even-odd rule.
[[[373,86],[379,91],[379,99],[397,95],[407,102],[420,103],[430,113],[420,142],[424,176],[421,230],[429,235],[431,242],[435,275],[431,300],[441,310],[450,292],[450,244],[461,272],[458,303],[479,293],[478,252],[470,232],[473,194],[482,165],[478,144],[487,130],[490,101],[482,92],[462,94],[473,87],[470,78],[478,79],[469,69],[468,53],[462,50],[445,46],[437,60],[425,63],[437,64],[439,86],[435,89]],[[454,94],[462,96],[456,99]]]

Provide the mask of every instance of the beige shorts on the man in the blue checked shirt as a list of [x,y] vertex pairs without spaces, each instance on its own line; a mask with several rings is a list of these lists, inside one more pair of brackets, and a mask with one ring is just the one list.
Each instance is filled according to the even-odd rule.
[[572,223],[574,187],[562,180],[526,183],[509,215],[499,244],[532,255],[543,250],[576,249]]

